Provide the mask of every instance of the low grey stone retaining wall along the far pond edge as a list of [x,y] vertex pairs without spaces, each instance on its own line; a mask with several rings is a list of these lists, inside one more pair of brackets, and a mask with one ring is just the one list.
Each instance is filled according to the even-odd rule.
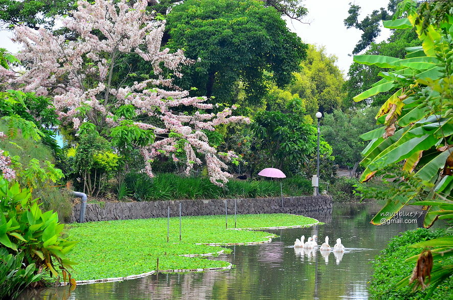
[[[214,200],[169,200],[143,202],[105,202],[86,204],[85,221],[109,221],[179,216],[179,203],[182,203],[183,216],[224,215],[225,201],[228,214],[234,214],[234,199]],[[283,198],[236,199],[238,214],[275,214],[287,213],[313,217],[320,221],[332,213],[331,196],[302,196]],[[76,204],[70,222],[79,220],[80,203]]]

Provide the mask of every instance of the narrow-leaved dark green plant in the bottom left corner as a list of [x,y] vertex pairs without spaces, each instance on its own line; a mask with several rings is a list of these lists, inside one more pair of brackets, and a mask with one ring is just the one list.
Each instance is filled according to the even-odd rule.
[[34,275],[35,264],[24,268],[24,252],[16,255],[0,248],[0,299],[16,299],[30,284],[39,281],[42,273]]

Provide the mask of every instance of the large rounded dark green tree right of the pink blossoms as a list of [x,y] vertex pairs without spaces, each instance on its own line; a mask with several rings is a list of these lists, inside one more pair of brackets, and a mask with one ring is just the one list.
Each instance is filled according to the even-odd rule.
[[[167,16],[171,49],[184,49],[194,64],[179,82],[194,96],[233,102],[242,82],[248,102],[259,103],[266,80],[282,87],[299,71],[307,45],[291,33],[273,7],[253,0],[186,0]],[[269,76],[265,76],[268,71]]]

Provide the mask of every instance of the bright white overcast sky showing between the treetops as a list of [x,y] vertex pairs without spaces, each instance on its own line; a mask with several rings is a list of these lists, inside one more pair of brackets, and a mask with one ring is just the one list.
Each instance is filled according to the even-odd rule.
[[[328,54],[335,55],[338,58],[337,65],[345,75],[352,63],[352,56],[348,54],[351,54],[361,35],[358,29],[346,29],[344,26],[343,20],[348,16],[350,2],[361,7],[360,20],[375,9],[387,8],[389,0],[305,0],[304,5],[308,8],[305,21],[309,21],[310,25],[288,21],[288,28],[296,32],[304,42],[325,46]],[[390,35],[390,30],[385,28],[381,30],[378,42]],[[0,31],[0,47],[16,53],[19,48],[10,38],[10,31]]]

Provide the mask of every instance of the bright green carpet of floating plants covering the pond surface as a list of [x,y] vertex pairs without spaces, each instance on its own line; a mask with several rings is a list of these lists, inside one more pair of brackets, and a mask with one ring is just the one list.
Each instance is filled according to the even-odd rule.
[[[307,225],[315,220],[288,214],[238,215],[237,227],[271,227]],[[234,226],[230,216],[229,226]],[[68,226],[67,238],[80,241],[69,255],[76,280],[122,277],[156,269],[196,269],[224,267],[225,261],[186,258],[179,255],[213,253],[226,248],[196,243],[244,243],[267,240],[270,233],[226,230],[225,217],[183,217],[182,241],[179,242],[179,218],[170,218],[170,240],[167,243],[167,219],[136,219],[76,223]]]

